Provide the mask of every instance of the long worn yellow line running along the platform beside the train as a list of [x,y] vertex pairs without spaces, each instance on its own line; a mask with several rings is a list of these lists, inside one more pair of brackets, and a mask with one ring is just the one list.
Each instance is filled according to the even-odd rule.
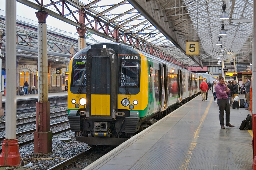
[[191,142],[190,146],[189,146],[189,149],[187,151],[187,153],[185,154],[185,161],[183,162],[183,164],[179,167],[179,170],[186,170],[187,169],[187,165],[190,161],[190,158],[192,156],[192,153],[194,151],[194,148],[196,147],[197,145],[197,139],[199,138],[199,132],[201,130],[201,127],[202,127],[202,124],[204,122],[204,119],[206,117],[206,115],[208,114],[208,111],[210,109],[210,106],[212,104],[212,99],[213,99],[213,96],[210,100],[210,103],[208,104],[207,108],[205,109],[205,112],[204,112],[204,115],[202,116],[201,120],[200,120],[200,123],[199,123],[199,126],[197,127],[197,130],[195,131],[194,133],[194,137],[193,137],[193,141]]

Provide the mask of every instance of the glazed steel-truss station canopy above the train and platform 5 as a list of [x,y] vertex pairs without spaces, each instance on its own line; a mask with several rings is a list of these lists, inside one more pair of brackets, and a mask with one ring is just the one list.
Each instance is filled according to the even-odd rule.
[[[234,58],[250,63],[252,0],[17,0],[78,28],[81,11],[88,32],[150,52],[184,66],[217,65]],[[223,8],[225,7],[226,8]],[[80,11],[80,12],[79,12]],[[220,19],[222,12],[228,19]],[[221,30],[226,35],[219,35]],[[115,36],[116,30],[119,36]],[[219,40],[224,49],[219,56]],[[186,55],[186,42],[199,42],[199,55]]]

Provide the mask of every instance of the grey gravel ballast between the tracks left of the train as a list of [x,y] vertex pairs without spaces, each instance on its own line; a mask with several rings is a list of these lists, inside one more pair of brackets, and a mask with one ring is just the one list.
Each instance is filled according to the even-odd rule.
[[[53,108],[50,111],[56,112],[61,110],[66,110],[67,107],[61,107],[61,108]],[[17,115],[17,119],[21,117],[29,117],[34,116],[35,112],[30,112],[26,114]],[[0,118],[0,121],[5,121],[5,116],[2,116]],[[31,125],[34,128],[34,125]],[[28,127],[26,127],[28,129]],[[32,127],[31,127],[32,129]],[[63,129],[63,127],[60,127],[59,130]],[[1,134],[1,132],[0,132]],[[5,134],[4,134],[5,136]],[[34,138],[34,136],[31,136],[30,138]],[[71,141],[60,141],[58,138],[71,138]],[[2,145],[2,144],[1,144]],[[67,131],[61,134],[54,135],[52,138],[52,153],[49,154],[34,154],[34,144],[28,144],[26,146],[21,146],[19,148],[20,156],[21,158],[25,158],[26,161],[32,162],[33,164],[37,165],[37,168],[35,170],[45,170],[48,169],[62,161],[64,159],[60,158],[70,158],[81,151],[85,150],[88,147],[87,144],[83,142],[76,142],[75,141],[75,134],[74,132]],[[26,159],[27,158],[27,159]],[[33,160],[29,160],[29,159]],[[40,159],[41,158],[41,159]],[[47,159],[42,159],[47,158]],[[54,159],[49,159],[54,158]],[[23,160],[23,159],[22,159]]]

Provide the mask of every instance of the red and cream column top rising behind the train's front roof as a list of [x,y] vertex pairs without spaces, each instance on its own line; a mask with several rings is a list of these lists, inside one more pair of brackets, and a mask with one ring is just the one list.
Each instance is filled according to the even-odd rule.
[[84,49],[86,47],[85,42],[85,33],[87,31],[87,28],[85,27],[85,12],[79,11],[79,23],[81,25],[81,28],[76,28],[77,33],[79,35],[78,38],[78,50]]

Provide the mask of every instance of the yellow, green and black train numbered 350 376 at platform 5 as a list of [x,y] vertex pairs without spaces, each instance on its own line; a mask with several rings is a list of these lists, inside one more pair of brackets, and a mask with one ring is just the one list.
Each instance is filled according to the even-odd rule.
[[69,64],[76,141],[119,145],[200,93],[204,77],[131,46],[97,43]]

